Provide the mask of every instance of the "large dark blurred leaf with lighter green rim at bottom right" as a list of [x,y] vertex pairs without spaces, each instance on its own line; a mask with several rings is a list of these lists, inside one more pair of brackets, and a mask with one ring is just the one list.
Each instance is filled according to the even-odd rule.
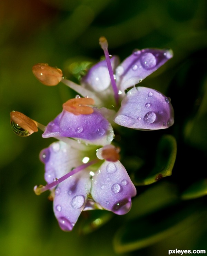
[[132,220],[117,231],[114,248],[117,253],[125,253],[150,246],[183,231],[205,215],[206,211],[198,205],[182,204]]

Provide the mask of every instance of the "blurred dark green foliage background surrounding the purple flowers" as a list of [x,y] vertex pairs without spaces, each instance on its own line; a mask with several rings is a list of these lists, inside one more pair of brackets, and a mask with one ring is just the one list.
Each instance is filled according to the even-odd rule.
[[[125,216],[84,212],[67,233],[58,226],[49,194],[33,193],[34,185],[45,184],[39,152],[54,140],[42,139],[41,131],[16,136],[9,113],[20,111],[45,125],[51,121],[75,92],[62,84],[43,86],[32,66],[49,63],[78,82],[84,63],[103,55],[100,36],[121,61],[135,48],[174,51],[142,86],[171,98],[175,124],[166,131],[117,132],[121,161],[137,185],[132,209]],[[1,0],[0,255],[157,256],[176,248],[207,250],[206,60],[206,0]],[[143,185],[151,171],[160,170],[172,175]]]

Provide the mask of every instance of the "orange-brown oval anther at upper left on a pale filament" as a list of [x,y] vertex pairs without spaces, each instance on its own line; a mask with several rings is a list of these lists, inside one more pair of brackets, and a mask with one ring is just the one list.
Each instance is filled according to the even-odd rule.
[[62,80],[62,70],[52,68],[46,63],[38,63],[32,67],[34,76],[43,85],[55,86]]

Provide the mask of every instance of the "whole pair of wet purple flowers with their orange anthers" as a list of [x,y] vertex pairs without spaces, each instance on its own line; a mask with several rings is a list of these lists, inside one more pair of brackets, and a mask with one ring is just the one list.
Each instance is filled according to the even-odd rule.
[[[20,129],[21,134],[29,135],[39,127],[43,138],[59,140],[40,153],[47,185],[35,186],[34,191],[39,195],[50,189],[53,210],[64,231],[73,229],[83,210],[105,209],[122,215],[131,208],[136,188],[119,161],[120,149],[111,144],[113,127],[157,130],[174,123],[170,98],[137,86],[172,58],[172,52],[135,50],[119,64],[117,56],[109,55],[105,37],[100,38],[100,45],[106,59],[88,71],[81,85],[62,78],[60,69],[47,64],[32,68],[44,85],[55,86],[61,80],[83,96],[64,103],[62,112],[46,127],[19,112],[11,114],[17,134]],[[30,132],[25,132],[27,127]]]

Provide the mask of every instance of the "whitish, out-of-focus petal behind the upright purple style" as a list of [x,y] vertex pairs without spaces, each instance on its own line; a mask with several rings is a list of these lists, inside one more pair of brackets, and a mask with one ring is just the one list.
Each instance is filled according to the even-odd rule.
[[[112,69],[115,70],[119,64],[118,56],[111,58]],[[107,67],[106,60],[98,62],[94,65],[82,78],[81,84],[87,89],[101,92],[106,90],[110,86],[111,80],[109,77],[109,71]]]

